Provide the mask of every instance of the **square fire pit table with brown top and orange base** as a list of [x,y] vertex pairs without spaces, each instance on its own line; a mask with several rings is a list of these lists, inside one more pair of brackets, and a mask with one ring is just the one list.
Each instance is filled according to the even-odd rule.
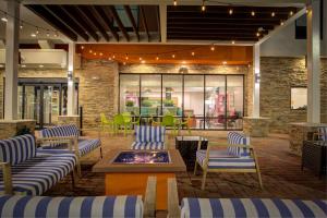
[[[175,178],[177,172],[185,172],[185,164],[177,149],[152,150],[168,152],[169,162],[124,164],[114,162],[121,153],[146,150],[111,150],[107,157],[93,167],[93,172],[106,173],[106,195],[143,195],[147,178],[157,178],[157,210],[167,209],[167,180]],[[150,150],[148,150],[150,152]]]

